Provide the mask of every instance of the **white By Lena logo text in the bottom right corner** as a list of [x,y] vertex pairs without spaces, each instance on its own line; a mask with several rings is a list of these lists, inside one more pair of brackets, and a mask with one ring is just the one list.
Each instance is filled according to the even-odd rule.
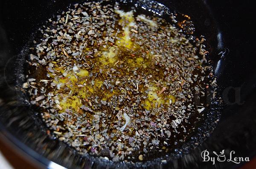
[[213,165],[215,164],[216,160],[219,162],[228,161],[237,164],[241,163],[242,161],[250,161],[249,157],[234,157],[235,151],[231,151],[229,157],[226,158],[226,156],[224,155],[224,151],[225,150],[222,150],[219,154],[213,151],[213,154],[215,154],[216,156],[210,157],[209,152],[206,149],[201,153],[201,157],[203,158],[203,161],[212,161]]

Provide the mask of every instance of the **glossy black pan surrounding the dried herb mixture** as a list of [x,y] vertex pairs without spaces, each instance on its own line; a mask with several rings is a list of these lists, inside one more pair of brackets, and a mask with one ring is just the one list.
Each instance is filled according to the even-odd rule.
[[[0,4],[0,131],[5,137],[43,165],[48,166],[53,161],[67,168],[236,168],[241,165],[216,161],[214,166],[210,162],[202,162],[201,152],[205,149],[209,152],[225,149],[228,156],[234,150],[239,157],[254,157],[256,105],[253,96],[256,77],[247,69],[251,66],[248,60],[253,54],[238,48],[241,41],[237,39],[243,36],[234,38],[234,33],[239,31],[236,32],[237,27],[233,26],[231,14],[224,11],[225,4],[219,6],[217,1],[157,1],[173,11],[188,14],[196,31],[205,35],[219,85],[218,93],[224,99],[224,108],[219,102],[211,104],[197,135],[170,155],[167,163],[152,160],[133,165],[81,157],[73,148],[46,135],[38,113],[24,104],[24,97],[15,86],[23,82],[26,46],[36,36],[36,30],[53,14],[67,10],[70,3],[79,2],[83,1],[35,0],[28,3],[21,0]],[[244,43],[248,42],[245,40]],[[222,57],[218,55],[221,51],[226,51]],[[206,141],[201,140],[204,133],[215,127],[212,121],[219,118],[219,112],[221,119],[216,129]],[[201,145],[191,149],[202,141]]]

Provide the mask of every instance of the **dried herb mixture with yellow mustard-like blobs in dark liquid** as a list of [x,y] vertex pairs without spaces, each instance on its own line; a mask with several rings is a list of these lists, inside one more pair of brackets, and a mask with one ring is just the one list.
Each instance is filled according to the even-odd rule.
[[143,161],[181,145],[203,115],[195,100],[209,85],[204,38],[183,33],[191,23],[184,18],[172,25],[93,2],[49,20],[30,48],[23,84],[48,134],[112,161]]

